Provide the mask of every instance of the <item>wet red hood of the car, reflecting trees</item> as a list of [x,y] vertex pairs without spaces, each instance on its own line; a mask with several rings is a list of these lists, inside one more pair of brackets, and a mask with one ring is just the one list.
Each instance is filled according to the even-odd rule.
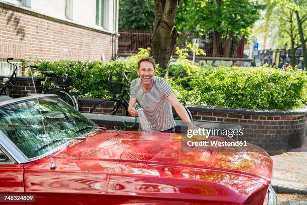
[[[272,160],[261,148],[248,144],[249,150],[183,152],[181,134],[99,131],[55,157],[210,168],[233,171],[265,179],[271,178]],[[217,137],[210,140],[222,141]]]

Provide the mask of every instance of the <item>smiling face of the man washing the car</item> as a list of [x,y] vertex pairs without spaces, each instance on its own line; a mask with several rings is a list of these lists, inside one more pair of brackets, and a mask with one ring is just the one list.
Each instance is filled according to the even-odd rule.
[[141,62],[136,72],[144,85],[152,83],[156,73],[154,66],[148,61]]

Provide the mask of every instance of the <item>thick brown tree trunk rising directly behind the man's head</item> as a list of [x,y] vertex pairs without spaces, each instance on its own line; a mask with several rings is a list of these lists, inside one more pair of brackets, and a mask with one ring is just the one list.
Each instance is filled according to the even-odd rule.
[[156,17],[151,37],[151,55],[167,75],[169,60],[177,42],[174,27],[178,0],[156,0]]

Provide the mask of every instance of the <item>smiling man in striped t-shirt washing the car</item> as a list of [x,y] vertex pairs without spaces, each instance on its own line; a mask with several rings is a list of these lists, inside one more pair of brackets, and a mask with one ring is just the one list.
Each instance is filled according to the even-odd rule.
[[173,106],[179,117],[189,127],[192,125],[187,111],[180,104],[171,86],[155,76],[155,59],[151,57],[140,59],[136,72],[139,78],[132,80],[130,85],[128,112],[131,116],[138,116],[135,110],[137,101],[151,124],[151,131],[174,133],[176,123],[172,114]]

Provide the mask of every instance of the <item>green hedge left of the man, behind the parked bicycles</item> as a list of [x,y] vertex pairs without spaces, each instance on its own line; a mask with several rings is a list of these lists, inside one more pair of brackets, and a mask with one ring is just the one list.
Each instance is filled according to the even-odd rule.
[[[130,56],[126,60],[117,59],[115,61],[95,61],[95,62],[73,62],[57,61],[54,63],[48,61],[37,61],[39,70],[54,71],[56,76],[69,76],[73,78],[73,89],[71,92],[80,97],[108,98],[113,96],[109,90],[108,76],[111,73],[122,73],[124,70],[130,70],[133,73],[128,75],[130,80],[137,77],[137,61],[149,56],[149,49],[139,49],[138,55]],[[157,66],[157,75],[159,75],[159,66]],[[38,74],[44,77],[45,75]],[[52,83],[49,79],[47,86]]]

